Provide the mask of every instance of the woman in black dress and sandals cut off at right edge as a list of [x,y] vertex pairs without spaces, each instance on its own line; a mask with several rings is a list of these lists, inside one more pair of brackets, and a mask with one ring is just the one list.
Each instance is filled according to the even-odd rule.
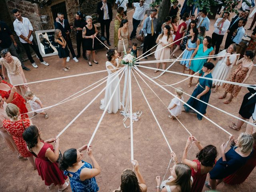
[[[254,87],[256,89],[256,85],[254,85]],[[254,108],[256,104],[256,96],[253,96],[250,99],[248,98],[256,92],[255,89],[248,88],[249,92],[244,95],[244,99],[239,110],[239,117],[243,120],[248,121],[254,112]],[[243,124],[244,124],[244,121],[238,119],[237,123],[232,122],[232,124],[229,125],[229,128],[239,131]]]

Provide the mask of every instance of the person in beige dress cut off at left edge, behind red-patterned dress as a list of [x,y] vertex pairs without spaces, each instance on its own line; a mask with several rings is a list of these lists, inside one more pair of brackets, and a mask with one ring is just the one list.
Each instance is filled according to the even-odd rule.
[[8,116],[5,113],[5,107],[7,103],[4,102],[3,106],[0,107],[0,135],[4,139],[6,145],[12,150],[13,152],[18,153],[18,149],[16,147],[16,144],[14,143],[14,140],[12,139],[12,136],[10,133],[3,127],[3,120],[9,119]]

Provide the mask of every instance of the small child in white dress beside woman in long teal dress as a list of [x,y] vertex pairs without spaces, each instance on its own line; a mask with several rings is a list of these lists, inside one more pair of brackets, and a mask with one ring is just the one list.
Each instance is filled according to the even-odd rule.
[[[182,97],[182,94],[183,94],[182,91],[183,91],[182,88],[178,87],[176,89],[176,96],[180,98],[182,101],[184,101],[184,98]],[[171,113],[171,115],[169,115],[169,118],[176,119],[176,117],[178,117],[178,115],[181,114],[181,109],[182,109],[181,101],[178,100],[176,97],[173,98],[168,106],[168,110]]]

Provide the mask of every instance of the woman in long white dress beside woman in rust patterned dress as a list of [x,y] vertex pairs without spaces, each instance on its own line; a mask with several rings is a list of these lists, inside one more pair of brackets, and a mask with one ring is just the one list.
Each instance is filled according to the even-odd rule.
[[[225,54],[230,54],[230,56],[224,56]],[[231,44],[228,49],[224,49],[221,52],[218,53],[218,56],[224,56],[219,57],[219,61],[217,62],[213,72],[212,72],[212,78],[218,79],[218,80],[226,80],[226,78],[229,76],[230,71],[232,70],[232,66],[236,62],[236,44]],[[219,81],[212,81],[212,84],[215,89],[212,90],[213,93],[215,93],[219,86],[222,86],[223,82]]]

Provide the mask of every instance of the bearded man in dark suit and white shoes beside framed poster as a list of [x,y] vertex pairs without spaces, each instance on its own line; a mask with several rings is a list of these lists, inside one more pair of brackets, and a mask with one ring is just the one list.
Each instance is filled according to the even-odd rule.
[[[55,27],[55,29],[61,30],[62,36],[66,40],[68,48],[69,48],[69,50],[72,54],[73,60],[75,62],[78,62],[78,60],[76,58],[75,51],[74,51],[73,46],[72,46],[72,41],[71,41],[71,38],[70,38],[71,28],[70,28],[70,25],[68,23],[68,20],[64,19],[64,14],[62,14],[62,13],[58,13],[57,16],[58,17],[56,18],[56,22],[54,22],[54,27]],[[70,60],[70,57],[68,56],[67,57],[67,62],[69,62],[69,60]]]

